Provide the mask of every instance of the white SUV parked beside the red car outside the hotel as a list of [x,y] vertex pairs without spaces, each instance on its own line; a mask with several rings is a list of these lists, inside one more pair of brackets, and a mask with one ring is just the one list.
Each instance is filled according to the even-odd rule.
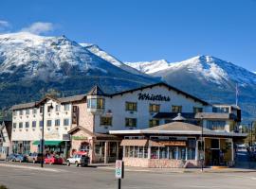
[[85,153],[75,153],[72,157],[66,160],[66,165],[75,164],[76,166],[87,166],[90,158]]

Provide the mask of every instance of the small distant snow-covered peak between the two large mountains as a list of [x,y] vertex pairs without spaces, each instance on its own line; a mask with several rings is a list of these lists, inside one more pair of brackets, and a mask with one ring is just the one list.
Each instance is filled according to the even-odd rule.
[[139,72],[145,74],[153,74],[155,72],[167,69],[169,67],[169,62],[167,60],[138,61],[124,63],[130,67],[137,69]]

